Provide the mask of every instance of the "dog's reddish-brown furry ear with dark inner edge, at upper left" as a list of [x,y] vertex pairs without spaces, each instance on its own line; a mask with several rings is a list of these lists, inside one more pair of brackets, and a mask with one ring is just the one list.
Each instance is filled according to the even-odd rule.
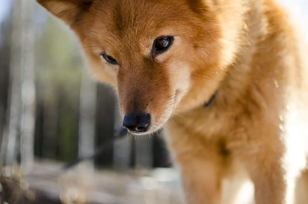
[[92,5],[92,0],[36,0],[55,17],[71,26],[82,19]]

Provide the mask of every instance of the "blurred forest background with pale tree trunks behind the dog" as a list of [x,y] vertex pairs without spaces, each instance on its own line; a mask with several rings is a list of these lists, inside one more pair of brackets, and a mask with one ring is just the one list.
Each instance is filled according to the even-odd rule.
[[[280,2],[308,19],[307,0]],[[113,89],[91,80],[81,52],[67,26],[34,0],[0,0],[1,174],[18,178],[33,202],[29,189],[42,191],[43,203],[182,203],[164,135],[128,135],[94,161],[47,178],[92,154],[122,123]]]

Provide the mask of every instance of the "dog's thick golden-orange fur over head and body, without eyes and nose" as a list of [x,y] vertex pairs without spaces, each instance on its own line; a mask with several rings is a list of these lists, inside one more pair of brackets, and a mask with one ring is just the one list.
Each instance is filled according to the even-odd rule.
[[[256,204],[308,203],[306,172],[295,186],[308,150],[307,56],[274,0],[37,1],[75,31],[123,116],[147,112],[149,132],[168,130],[189,204],[221,203],[226,178],[250,179]],[[172,46],[152,59],[165,35]]]

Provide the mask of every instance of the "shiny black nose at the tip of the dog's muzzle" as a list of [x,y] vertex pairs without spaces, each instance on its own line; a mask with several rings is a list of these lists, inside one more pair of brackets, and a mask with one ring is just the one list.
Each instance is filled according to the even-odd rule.
[[150,124],[150,114],[132,113],[125,115],[123,127],[133,133],[143,133],[148,131]]

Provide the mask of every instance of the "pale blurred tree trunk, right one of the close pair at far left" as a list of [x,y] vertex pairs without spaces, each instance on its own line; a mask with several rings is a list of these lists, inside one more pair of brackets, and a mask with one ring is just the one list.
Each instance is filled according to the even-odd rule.
[[21,118],[21,170],[31,171],[34,162],[35,124],[35,26],[34,1],[22,0],[22,118]]

